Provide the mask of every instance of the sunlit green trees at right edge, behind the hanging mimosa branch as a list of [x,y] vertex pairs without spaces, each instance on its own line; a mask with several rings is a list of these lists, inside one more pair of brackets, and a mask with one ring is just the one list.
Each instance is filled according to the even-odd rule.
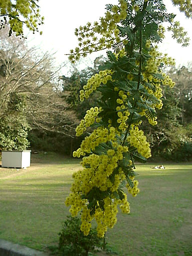
[[190,68],[171,68],[174,88],[163,88],[163,111],[157,110],[158,123],[142,125],[151,144],[153,155],[186,161],[192,157],[191,147],[191,72]]

